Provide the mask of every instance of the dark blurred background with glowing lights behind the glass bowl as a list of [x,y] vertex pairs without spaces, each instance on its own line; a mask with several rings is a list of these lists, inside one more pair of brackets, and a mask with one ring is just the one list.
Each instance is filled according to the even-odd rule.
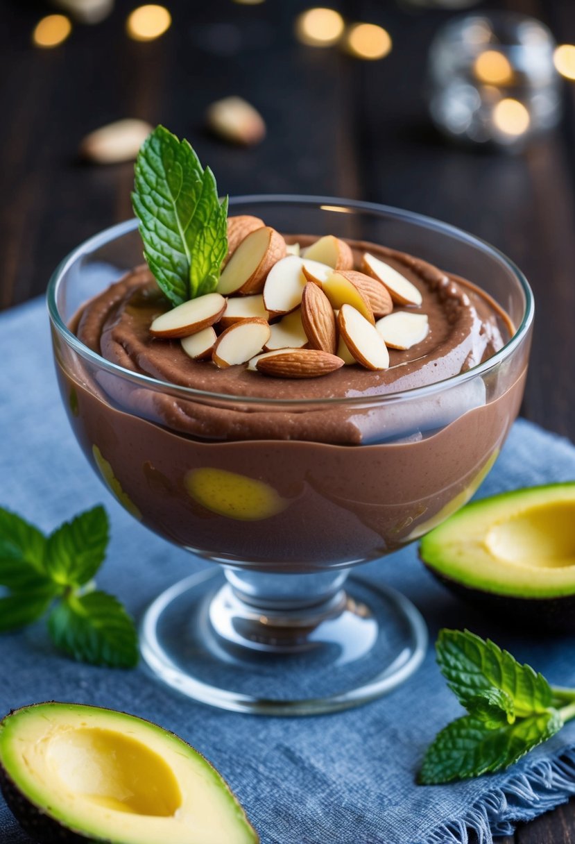
[[572,0],[0,9],[0,306],[132,216],[133,158],[162,122],[221,193],[371,200],[501,248],[537,300],[524,414],[575,436]]

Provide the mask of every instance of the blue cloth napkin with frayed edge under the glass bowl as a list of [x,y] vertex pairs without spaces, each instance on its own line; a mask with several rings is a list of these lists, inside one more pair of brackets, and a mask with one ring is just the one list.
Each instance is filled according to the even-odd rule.
[[[112,522],[99,586],[140,617],[165,587],[207,564],[149,533],[112,500],[80,452],[61,406],[43,301],[0,317],[0,505],[49,531],[104,502]],[[575,448],[519,421],[480,495],[575,478]],[[363,576],[404,592],[432,641],[441,626],[491,636],[551,682],[575,685],[575,639],[517,636],[459,603],[427,574],[416,547]],[[388,697],[309,718],[254,718],[195,704],[140,666],[74,663],[42,624],[0,637],[0,714],[35,701],[78,701],[133,712],[179,733],[228,780],[263,844],[482,844],[575,794],[575,723],[497,776],[418,787],[414,775],[438,729],[461,714],[434,662]],[[24,844],[0,798],[0,840]]]

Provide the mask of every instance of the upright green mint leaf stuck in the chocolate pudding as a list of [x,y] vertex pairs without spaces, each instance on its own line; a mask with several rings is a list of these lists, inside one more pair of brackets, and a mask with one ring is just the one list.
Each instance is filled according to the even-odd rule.
[[216,288],[228,251],[228,200],[190,144],[163,126],[142,143],[132,204],[144,257],[159,287],[180,305]]

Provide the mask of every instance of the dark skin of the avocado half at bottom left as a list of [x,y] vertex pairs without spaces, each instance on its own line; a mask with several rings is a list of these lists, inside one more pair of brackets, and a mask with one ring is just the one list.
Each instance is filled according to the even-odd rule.
[[[39,703],[29,704],[28,706],[21,706],[17,709],[12,709],[8,712],[8,715],[0,719],[0,727],[2,727],[3,721],[5,721],[6,718],[15,715],[17,712],[21,710],[34,709],[36,706],[40,708],[41,706],[46,706],[46,703],[59,705],[62,703],[62,701],[40,701]],[[64,704],[64,706],[66,706],[66,704]],[[89,706],[89,704],[79,704],[78,706]],[[116,715],[128,715],[127,712],[122,712],[120,710],[111,709],[110,707],[105,706],[94,706],[94,709],[105,709],[106,711],[114,712]],[[158,724],[155,724],[154,722],[149,721],[145,718],[141,718],[139,716],[137,716],[137,718],[139,721],[144,721],[148,724],[152,724],[153,727],[161,729],[164,733],[169,733],[169,735],[175,736],[175,738],[182,742],[182,744],[188,744],[184,741],[183,738],[180,738],[180,736],[170,732],[169,730],[165,730],[164,728],[159,727]],[[197,750],[195,750],[195,752],[198,753]],[[210,765],[209,762],[207,764]],[[229,790],[228,783],[225,782],[225,780],[223,780],[223,784]],[[1,761],[0,792],[3,793],[3,798],[6,801],[8,809],[10,809],[13,816],[16,818],[16,820],[18,820],[19,825],[22,827],[24,832],[27,832],[30,838],[33,838],[34,841],[38,841],[39,844],[118,844],[117,841],[113,841],[110,838],[94,838],[94,836],[91,835],[85,836],[82,832],[78,830],[72,830],[70,829],[70,827],[61,824],[58,820],[46,814],[46,812],[41,809],[40,806],[37,806],[36,803],[33,803],[29,798],[25,796],[24,793],[19,790],[19,787],[13,782],[12,777],[9,776],[8,772],[4,769],[4,766]],[[258,836],[254,827],[250,824],[250,821],[245,815],[243,809],[242,813],[244,814],[246,825],[253,833],[254,844],[259,844],[260,837]]]

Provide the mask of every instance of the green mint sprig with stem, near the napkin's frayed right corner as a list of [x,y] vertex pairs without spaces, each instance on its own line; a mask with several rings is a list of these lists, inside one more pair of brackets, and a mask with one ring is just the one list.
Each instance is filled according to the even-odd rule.
[[438,665],[468,714],[427,748],[419,782],[503,771],[575,717],[575,690],[551,686],[529,665],[469,630],[441,630]]

